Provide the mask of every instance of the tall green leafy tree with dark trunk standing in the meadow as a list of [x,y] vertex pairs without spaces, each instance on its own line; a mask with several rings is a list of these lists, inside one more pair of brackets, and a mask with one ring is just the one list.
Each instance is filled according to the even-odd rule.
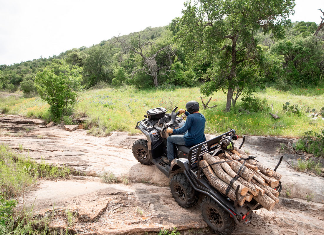
[[[254,33],[260,28],[274,37],[283,37],[283,24],[293,12],[294,0],[199,0],[186,9],[179,20],[176,38],[187,60],[208,64],[202,93],[227,90],[226,111],[243,89],[260,82],[260,56]],[[213,71],[213,72],[211,72]],[[233,97],[235,95],[235,97]]]

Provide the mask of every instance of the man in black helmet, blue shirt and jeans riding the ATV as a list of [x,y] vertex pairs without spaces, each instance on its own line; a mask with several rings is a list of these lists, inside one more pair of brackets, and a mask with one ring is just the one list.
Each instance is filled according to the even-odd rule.
[[[184,109],[179,109],[179,113],[184,113],[187,116],[186,123],[177,129],[168,128],[167,133],[177,134],[170,135],[167,139],[168,158],[162,157],[166,164],[170,164],[174,159],[173,144],[181,144],[194,146],[206,141],[204,134],[206,119],[199,111],[199,103],[197,101],[189,101],[186,104],[186,112]],[[184,135],[179,135],[183,134]]]

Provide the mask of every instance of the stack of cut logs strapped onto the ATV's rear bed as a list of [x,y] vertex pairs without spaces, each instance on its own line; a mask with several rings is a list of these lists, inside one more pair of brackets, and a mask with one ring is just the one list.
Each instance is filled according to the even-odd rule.
[[[240,158],[248,158],[248,155],[235,147],[234,150],[226,151],[217,156],[212,156],[208,153],[204,154],[203,160],[200,161],[199,166],[201,168],[208,166],[203,169],[203,173],[208,178],[211,185],[225,195],[226,188],[230,181],[237,176],[244,162],[244,160],[238,161]],[[209,166],[215,162],[224,162],[228,160],[233,161]],[[234,181],[227,197],[235,201],[235,190],[237,186],[240,186],[238,191],[238,204],[240,206],[242,206],[245,201],[249,202],[253,198],[267,210],[272,210],[275,204],[279,202],[279,192],[274,188],[279,185],[281,175],[253,159],[247,160],[244,166],[246,166],[245,170],[242,175]]]

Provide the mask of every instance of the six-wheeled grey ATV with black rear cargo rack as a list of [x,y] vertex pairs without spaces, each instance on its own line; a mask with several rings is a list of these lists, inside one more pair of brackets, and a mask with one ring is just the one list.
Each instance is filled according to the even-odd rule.
[[[179,128],[185,123],[181,117],[178,117],[177,109],[178,107],[175,107],[170,114],[161,107],[146,112],[145,118],[137,122],[135,128],[145,134],[147,139],[134,142],[133,155],[141,164],[155,165],[170,179],[172,196],[181,207],[192,207],[197,203],[199,194],[205,195],[201,202],[203,219],[216,233],[230,234],[236,225],[248,224],[253,216],[252,210],[262,206],[254,199],[239,206],[237,200],[232,201],[225,197],[211,186],[200,169],[199,161],[205,153],[218,154],[233,148],[233,140],[237,140],[236,132],[231,129],[195,146],[175,144],[175,159],[168,165],[162,161],[162,156],[167,156],[167,138],[172,135],[166,130],[167,128]],[[277,190],[280,192],[281,189],[280,182]],[[238,188],[236,198],[238,198]]]

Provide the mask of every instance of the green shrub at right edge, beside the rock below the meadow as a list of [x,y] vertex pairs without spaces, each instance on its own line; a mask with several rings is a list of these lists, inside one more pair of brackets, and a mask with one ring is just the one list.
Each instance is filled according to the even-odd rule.
[[324,156],[324,129],[321,133],[313,131],[304,132],[303,136],[297,141],[296,150],[302,150],[315,156]]

